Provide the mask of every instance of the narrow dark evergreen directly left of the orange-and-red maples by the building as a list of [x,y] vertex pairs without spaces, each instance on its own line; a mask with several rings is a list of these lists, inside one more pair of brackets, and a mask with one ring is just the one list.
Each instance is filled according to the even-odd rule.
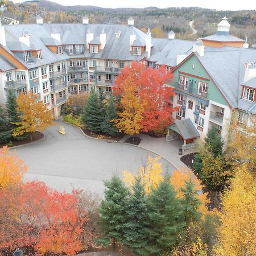
[[118,128],[115,126],[115,123],[112,122],[113,119],[117,119],[117,109],[115,107],[114,97],[111,96],[108,101],[108,105],[106,106],[104,121],[101,123],[101,130],[105,134],[109,135],[117,135]]

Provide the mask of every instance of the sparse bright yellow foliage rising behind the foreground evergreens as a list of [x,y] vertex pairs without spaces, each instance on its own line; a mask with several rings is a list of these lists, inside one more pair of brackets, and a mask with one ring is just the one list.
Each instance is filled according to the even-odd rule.
[[145,193],[148,195],[151,193],[153,188],[156,188],[160,181],[163,179],[162,164],[158,162],[160,156],[152,158],[148,156],[147,163],[139,167],[137,174],[132,174],[129,171],[123,172],[123,181],[128,183],[131,187],[136,177],[141,176],[142,182],[145,185]]

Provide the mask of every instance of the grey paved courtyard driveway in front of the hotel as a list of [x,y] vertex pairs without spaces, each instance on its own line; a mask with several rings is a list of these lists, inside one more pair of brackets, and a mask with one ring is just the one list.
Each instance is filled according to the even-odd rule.
[[[60,125],[65,127],[65,135],[59,133]],[[85,188],[102,196],[103,180],[110,179],[113,173],[122,175],[123,170],[136,172],[148,155],[155,156],[129,144],[85,137],[77,127],[63,121],[57,121],[44,133],[43,141],[17,147],[16,153],[28,164],[25,180],[38,179],[60,191]],[[174,171],[167,160],[160,162],[164,171]]]

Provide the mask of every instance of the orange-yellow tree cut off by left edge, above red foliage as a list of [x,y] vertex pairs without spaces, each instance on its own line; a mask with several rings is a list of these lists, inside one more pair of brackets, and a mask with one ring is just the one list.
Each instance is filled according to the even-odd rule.
[[0,190],[22,180],[27,166],[9,148],[0,148]]

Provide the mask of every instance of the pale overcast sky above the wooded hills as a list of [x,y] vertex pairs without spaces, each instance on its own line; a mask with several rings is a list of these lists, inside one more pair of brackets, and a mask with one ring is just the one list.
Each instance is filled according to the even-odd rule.
[[[14,0],[13,2],[19,3],[24,2],[20,0]],[[52,2],[60,3],[61,5],[93,5],[100,7],[109,7],[109,8],[117,8],[117,7],[148,7],[148,6],[156,6],[159,8],[166,7],[191,7],[198,6],[209,9],[217,9],[217,10],[256,10],[256,1],[255,0],[247,0],[247,1],[230,1],[230,0],[178,0],[178,1],[168,1],[168,0],[52,0]]]

